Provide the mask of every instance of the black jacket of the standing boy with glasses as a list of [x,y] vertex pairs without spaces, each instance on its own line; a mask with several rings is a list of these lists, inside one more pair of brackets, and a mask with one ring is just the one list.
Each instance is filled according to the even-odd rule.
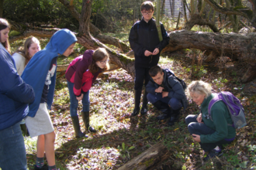
[[[159,61],[161,50],[168,45],[170,37],[161,23],[163,40],[160,42],[157,26],[154,19],[145,22],[144,19],[136,22],[130,29],[129,42],[134,51],[135,67],[150,68],[156,66]],[[155,56],[144,56],[146,50],[153,53],[155,48],[159,48],[159,53]]]

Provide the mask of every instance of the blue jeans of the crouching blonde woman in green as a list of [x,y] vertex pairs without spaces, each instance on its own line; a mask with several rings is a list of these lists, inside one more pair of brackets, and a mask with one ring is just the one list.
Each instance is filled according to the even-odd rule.
[[[187,117],[185,117],[185,123],[188,125],[189,128],[189,133],[190,134],[213,134],[215,131],[212,128],[209,128],[208,126],[206,126],[206,124],[202,124],[196,121],[196,117],[197,115],[195,114],[189,114]],[[221,141],[217,141],[215,143],[202,143],[199,142],[199,144],[201,145],[201,148],[203,151],[211,151],[214,148],[216,148],[216,146],[221,147],[221,145],[223,144],[230,144],[232,141],[226,141],[226,140],[221,140]]]

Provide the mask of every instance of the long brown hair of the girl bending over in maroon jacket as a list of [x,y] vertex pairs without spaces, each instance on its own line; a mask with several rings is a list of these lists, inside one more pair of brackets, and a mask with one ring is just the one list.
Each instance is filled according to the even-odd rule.
[[[109,53],[107,53],[106,49],[98,48],[92,54],[92,64],[89,66],[89,70],[91,73],[96,73],[99,71],[99,66],[96,64],[97,61],[101,61],[102,59],[109,59]],[[106,63],[106,66],[102,70],[109,70],[109,62]]]

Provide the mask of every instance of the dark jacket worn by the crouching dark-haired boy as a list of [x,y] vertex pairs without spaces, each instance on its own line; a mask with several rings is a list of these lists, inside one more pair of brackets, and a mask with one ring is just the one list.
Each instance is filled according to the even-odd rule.
[[[178,100],[182,100],[182,106],[184,110],[188,107],[188,102],[185,97],[185,91],[182,87],[182,84],[175,78],[175,76],[167,76],[168,69],[164,70],[164,91],[168,91],[168,97],[176,98]],[[154,83],[152,77],[150,77],[150,81],[147,83],[146,90],[147,93],[156,93],[155,90],[160,87],[157,83]]]

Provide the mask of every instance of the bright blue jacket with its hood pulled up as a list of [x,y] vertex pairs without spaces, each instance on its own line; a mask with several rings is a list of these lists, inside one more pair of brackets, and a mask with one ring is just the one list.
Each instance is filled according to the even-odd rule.
[[[47,46],[40,52],[37,52],[26,65],[22,73],[22,79],[31,85],[36,93],[35,100],[33,103],[29,104],[29,117],[35,117],[36,111],[40,105],[43,87],[47,79],[47,73],[50,70],[52,59],[63,54],[66,49],[76,41],[78,41],[78,39],[74,36],[73,32],[68,29],[61,29],[54,33],[54,36],[50,38],[50,42],[48,42]],[[48,109],[50,109],[54,101],[56,70],[50,80],[51,83],[47,95]]]

